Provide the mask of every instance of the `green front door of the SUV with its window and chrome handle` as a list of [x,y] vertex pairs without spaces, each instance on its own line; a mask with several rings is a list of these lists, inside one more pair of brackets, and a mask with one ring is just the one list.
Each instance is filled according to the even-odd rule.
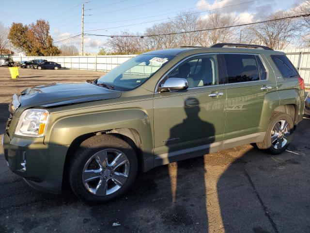
[[[226,90],[225,85],[218,84],[218,73],[217,55],[201,55],[184,61],[161,81],[186,78],[189,87],[155,93],[155,156],[177,156],[203,148],[208,153],[208,148],[221,144]],[[163,163],[177,160],[168,158]]]

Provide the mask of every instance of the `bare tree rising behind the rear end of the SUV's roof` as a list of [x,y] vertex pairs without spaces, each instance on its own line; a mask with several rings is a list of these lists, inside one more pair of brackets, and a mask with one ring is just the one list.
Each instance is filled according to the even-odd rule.
[[[264,20],[273,20],[289,17],[288,12],[274,13]],[[274,50],[283,50],[296,39],[299,27],[293,22],[294,19],[281,19],[255,24],[248,29],[248,36],[256,44],[263,44]]]

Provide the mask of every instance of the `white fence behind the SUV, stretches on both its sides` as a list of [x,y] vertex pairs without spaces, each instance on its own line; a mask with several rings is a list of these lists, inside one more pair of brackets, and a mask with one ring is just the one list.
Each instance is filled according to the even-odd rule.
[[[305,85],[310,87],[310,49],[282,50],[287,54],[301,77],[305,80]],[[107,56],[56,56],[56,57],[29,57],[13,56],[14,61],[29,61],[33,59],[45,59],[59,63],[62,67],[69,69],[85,69],[109,71],[137,55],[107,55]]]

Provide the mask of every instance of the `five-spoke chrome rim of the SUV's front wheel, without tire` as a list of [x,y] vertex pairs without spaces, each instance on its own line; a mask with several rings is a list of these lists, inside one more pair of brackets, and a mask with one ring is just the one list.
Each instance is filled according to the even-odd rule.
[[129,161],[124,152],[105,149],[96,152],[85,164],[84,187],[93,195],[106,196],[119,190],[129,175]]

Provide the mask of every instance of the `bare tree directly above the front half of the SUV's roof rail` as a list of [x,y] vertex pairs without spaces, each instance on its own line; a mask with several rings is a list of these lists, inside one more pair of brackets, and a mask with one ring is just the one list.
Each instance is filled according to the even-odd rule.
[[222,15],[219,11],[209,14],[206,18],[200,19],[200,28],[212,29],[202,31],[197,36],[198,44],[201,46],[211,46],[216,43],[233,42],[236,29],[231,28],[236,23],[236,17]]

